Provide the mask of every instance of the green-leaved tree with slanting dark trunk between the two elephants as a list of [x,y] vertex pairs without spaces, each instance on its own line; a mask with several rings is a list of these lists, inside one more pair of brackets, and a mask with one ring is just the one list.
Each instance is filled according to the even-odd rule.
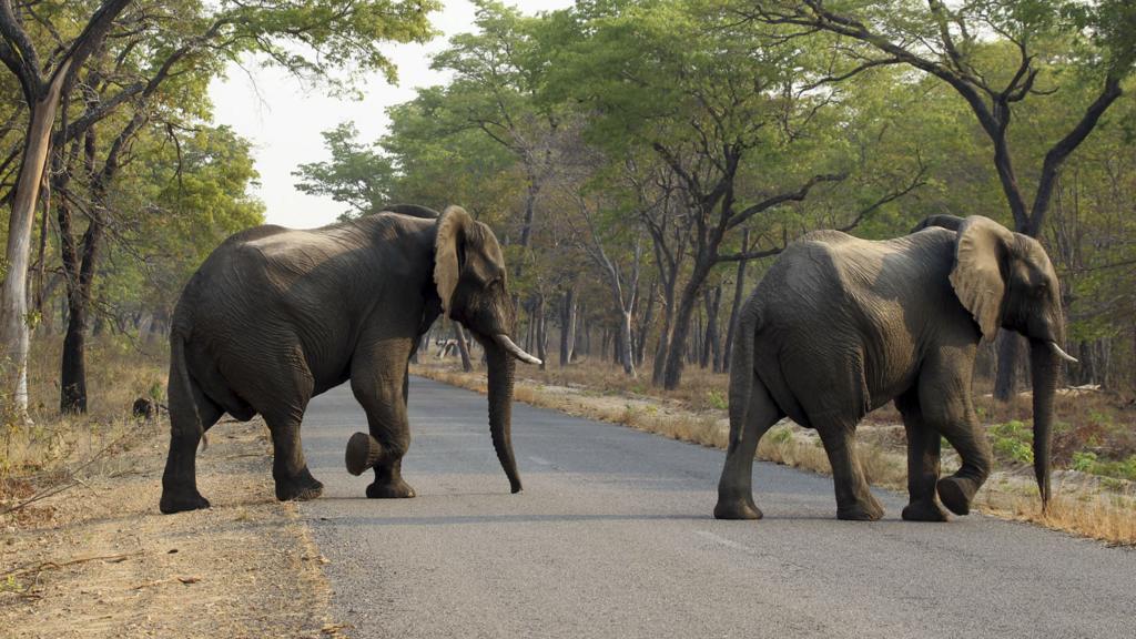
[[[840,102],[833,92],[797,82],[811,51],[755,48],[752,30],[733,28],[730,19],[701,2],[603,3],[587,11],[576,23],[570,55],[552,72],[550,92],[591,108],[591,139],[611,155],[649,150],[675,176],[692,264],[663,374],[663,385],[674,389],[711,273],[719,264],[782,248],[729,252],[736,233],[777,207],[804,200],[818,185],[849,177],[840,158],[817,143],[816,128],[834,123],[827,111]],[[759,167],[777,179],[762,182]],[[852,225],[919,184],[917,176],[880,197],[854,214]]]

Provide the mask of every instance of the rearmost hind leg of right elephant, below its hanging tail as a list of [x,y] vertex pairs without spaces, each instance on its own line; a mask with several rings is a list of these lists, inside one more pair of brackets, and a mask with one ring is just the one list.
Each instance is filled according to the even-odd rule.
[[753,455],[761,435],[785,416],[757,374],[750,374],[753,379],[745,412],[729,413],[729,448],[718,481],[718,505],[713,509],[715,518],[719,520],[761,518],[761,511],[753,503]]

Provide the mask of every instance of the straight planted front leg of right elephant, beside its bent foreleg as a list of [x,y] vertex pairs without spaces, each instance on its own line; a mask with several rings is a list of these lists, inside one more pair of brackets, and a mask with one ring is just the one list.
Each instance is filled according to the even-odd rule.
[[945,522],[946,513],[935,499],[942,448],[938,431],[924,420],[917,389],[895,398],[895,407],[903,415],[903,426],[908,434],[910,501],[903,508],[902,516],[911,522]]

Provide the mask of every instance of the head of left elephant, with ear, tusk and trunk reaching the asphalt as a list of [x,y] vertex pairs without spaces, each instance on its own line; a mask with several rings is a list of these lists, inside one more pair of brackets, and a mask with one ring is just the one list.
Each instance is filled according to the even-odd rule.
[[512,492],[520,491],[512,454],[512,384],[516,359],[541,360],[512,341],[516,317],[501,247],[490,227],[451,206],[438,216],[434,283],[442,309],[469,329],[485,348],[488,366],[490,433]]

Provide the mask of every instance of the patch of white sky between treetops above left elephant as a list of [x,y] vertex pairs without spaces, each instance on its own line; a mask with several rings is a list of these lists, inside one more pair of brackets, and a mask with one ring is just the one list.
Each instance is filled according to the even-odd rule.
[[[517,3],[526,14],[570,7],[571,0],[525,0]],[[354,121],[362,140],[377,140],[390,121],[385,108],[409,101],[415,88],[442,84],[445,76],[431,70],[429,58],[445,48],[451,35],[474,26],[469,2],[446,1],[445,8],[431,15],[442,32],[423,44],[392,44],[387,55],[399,67],[399,85],[392,86],[381,75],[369,80],[361,101],[326,96],[321,89],[306,90],[298,81],[273,68],[233,66],[227,80],[215,80],[209,88],[214,99],[214,121],[227,124],[252,141],[260,188],[257,194],[266,205],[269,223],[295,229],[323,226],[334,222],[346,205],[331,198],[306,196],[293,188],[292,172],[300,164],[328,159],[321,132]]]

